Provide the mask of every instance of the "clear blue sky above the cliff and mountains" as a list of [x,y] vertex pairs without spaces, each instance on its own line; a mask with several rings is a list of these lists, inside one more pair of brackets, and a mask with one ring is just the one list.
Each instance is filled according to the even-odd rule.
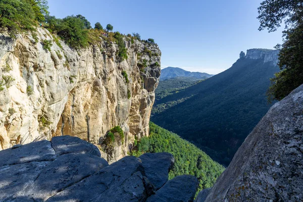
[[271,48],[282,42],[282,29],[258,31],[262,0],[48,0],[51,15],[81,14],[122,33],[154,38],[162,51],[161,66],[219,73],[241,51]]

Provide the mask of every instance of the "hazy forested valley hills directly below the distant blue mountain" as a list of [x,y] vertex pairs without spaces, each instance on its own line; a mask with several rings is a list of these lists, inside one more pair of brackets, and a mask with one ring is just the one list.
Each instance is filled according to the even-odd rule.
[[[205,80],[205,79],[203,79]],[[197,84],[198,82],[203,81],[195,77],[175,77],[160,81],[158,87],[155,90],[156,99],[151,110],[151,116],[159,114],[181,102],[184,102],[187,98],[182,98],[179,100],[174,100],[172,102],[162,103],[161,100],[166,96],[172,95],[174,93],[179,93],[185,88]],[[158,105],[158,103],[161,103]]]

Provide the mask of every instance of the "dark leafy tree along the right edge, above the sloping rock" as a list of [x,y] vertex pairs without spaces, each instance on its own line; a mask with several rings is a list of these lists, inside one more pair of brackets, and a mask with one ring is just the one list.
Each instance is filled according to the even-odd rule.
[[303,83],[303,2],[302,0],[266,0],[258,8],[259,30],[276,31],[285,23],[283,44],[276,48],[281,71],[271,79],[269,100],[282,99]]

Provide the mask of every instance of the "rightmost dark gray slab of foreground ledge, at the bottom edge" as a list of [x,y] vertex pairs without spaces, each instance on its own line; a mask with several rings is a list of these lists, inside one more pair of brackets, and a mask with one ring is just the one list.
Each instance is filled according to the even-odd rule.
[[192,175],[180,175],[166,182],[146,202],[189,202],[193,201],[198,180]]

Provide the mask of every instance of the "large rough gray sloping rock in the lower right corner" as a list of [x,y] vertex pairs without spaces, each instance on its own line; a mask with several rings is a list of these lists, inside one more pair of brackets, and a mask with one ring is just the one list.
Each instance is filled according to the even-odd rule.
[[303,85],[276,103],[247,136],[206,200],[301,201]]

